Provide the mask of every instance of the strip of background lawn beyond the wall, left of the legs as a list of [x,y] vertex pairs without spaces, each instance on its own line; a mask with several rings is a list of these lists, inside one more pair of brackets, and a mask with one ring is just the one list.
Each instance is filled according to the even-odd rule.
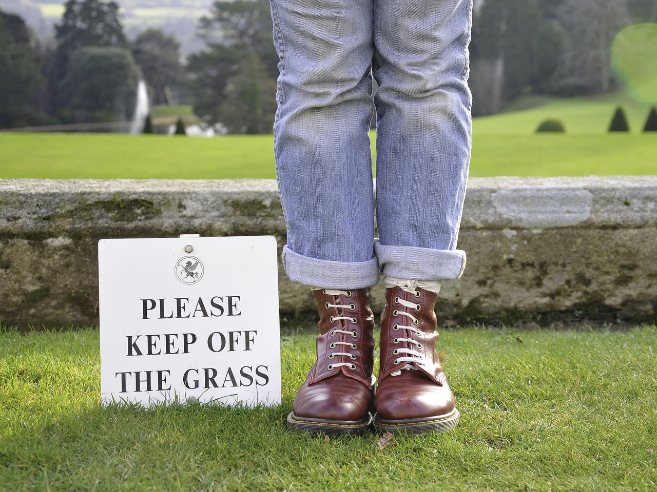
[[0,133],[0,178],[273,178],[271,135]]

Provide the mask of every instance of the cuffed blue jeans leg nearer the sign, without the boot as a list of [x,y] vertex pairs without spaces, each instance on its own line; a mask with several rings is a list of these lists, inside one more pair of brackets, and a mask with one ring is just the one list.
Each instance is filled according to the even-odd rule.
[[271,0],[281,58],[274,125],[292,281],[374,285],[371,0]]

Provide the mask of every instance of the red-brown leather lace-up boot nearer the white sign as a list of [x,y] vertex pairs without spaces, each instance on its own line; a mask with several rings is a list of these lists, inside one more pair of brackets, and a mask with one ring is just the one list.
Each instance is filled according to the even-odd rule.
[[288,428],[364,434],[372,423],[374,316],[365,289],[315,291],[317,362],[294,398]]

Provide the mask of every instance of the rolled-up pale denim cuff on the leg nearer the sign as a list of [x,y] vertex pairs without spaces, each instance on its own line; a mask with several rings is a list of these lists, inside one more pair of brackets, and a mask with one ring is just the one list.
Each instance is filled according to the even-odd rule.
[[364,262],[320,260],[283,247],[283,268],[290,280],[323,289],[366,289],[378,282],[376,258]]

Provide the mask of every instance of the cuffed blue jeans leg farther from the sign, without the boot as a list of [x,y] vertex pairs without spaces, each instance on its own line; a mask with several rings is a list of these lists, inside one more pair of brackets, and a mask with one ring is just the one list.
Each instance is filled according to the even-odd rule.
[[376,257],[386,276],[453,279],[470,161],[471,0],[375,0]]

